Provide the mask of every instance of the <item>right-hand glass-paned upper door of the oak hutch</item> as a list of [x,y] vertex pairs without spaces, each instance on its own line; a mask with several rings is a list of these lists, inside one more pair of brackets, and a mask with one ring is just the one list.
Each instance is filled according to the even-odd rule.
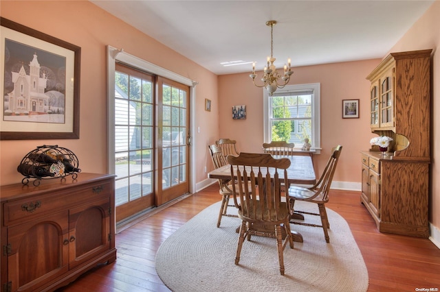
[[380,127],[394,127],[394,78],[393,70],[380,78]]

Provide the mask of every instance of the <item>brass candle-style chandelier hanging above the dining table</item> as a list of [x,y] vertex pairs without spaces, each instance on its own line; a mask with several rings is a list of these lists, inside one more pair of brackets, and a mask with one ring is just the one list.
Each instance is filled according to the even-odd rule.
[[276,70],[276,66],[274,65],[274,25],[276,25],[276,21],[267,21],[267,26],[270,26],[270,57],[267,57],[267,66],[264,67],[264,75],[261,78],[263,85],[259,85],[255,83],[255,62],[252,64],[252,74],[249,77],[252,78],[252,82],[256,87],[265,87],[270,96],[276,91],[276,88],[283,88],[289,83],[290,75],[294,73],[294,71],[290,71],[290,59],[287,60],[287,65],[284,65],[284,74],[281,75]]

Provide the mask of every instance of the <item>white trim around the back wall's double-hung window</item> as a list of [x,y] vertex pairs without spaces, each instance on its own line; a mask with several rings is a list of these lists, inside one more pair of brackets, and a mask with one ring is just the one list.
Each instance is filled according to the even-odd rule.
[[[312,101],[311,112],[313,119],[313,136],[311,137],[314,141],[314,149],[316,149],[316,154],[320,154],[321,142],[320,142],[320,83],[310,83],[310,84],[296,84],[296,85],[286,85],[284,88],[276,90],[277,95],[279,93],[288,93],[292,91],[305,91],[312,90],[314,93],[314,100]],[[269,123],[269,93],[263,88],[263,138],[264,143],[270,143],[270,123]]]

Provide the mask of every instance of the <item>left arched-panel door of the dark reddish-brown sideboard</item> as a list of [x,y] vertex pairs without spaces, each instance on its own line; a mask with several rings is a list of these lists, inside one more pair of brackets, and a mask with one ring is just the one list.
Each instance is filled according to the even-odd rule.
[[35,291],[68,270],[68,212],[8,228],[8,281],[12,291]]

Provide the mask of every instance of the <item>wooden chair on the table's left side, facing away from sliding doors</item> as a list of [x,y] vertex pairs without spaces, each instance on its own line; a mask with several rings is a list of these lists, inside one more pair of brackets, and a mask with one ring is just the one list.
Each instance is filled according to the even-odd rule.
[[[212,159],[212,165],[214,165],[214,169],[218,169],[219,167],[223,167],[228,164],[226,162],[225,157],[223,156],[223,152],[221,151],[221,148],[217,145],[208,145],[208,148],[210,150],[211,159]],[[219,187],[220,187],[220,195],[221,195],[221,206],[219,211],[219,219],[217,219],[217,227],[220,227],[221,223],[221,217],[238,217],[237,215],[230,215],[227,213],[228,206],[232,207],[234,205],[229,204],[230,196],[232,195],[232,189],[231,189],[231,180],[219,180]]]

